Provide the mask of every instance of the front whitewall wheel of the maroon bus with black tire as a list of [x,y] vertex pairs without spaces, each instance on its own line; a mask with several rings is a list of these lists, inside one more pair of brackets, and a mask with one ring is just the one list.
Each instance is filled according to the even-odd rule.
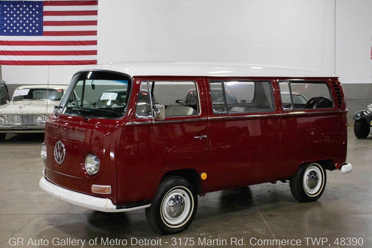
[[198,196],[189,180],[171,176],[162,181],[153,203],[145,209],[146,218],[158,232],[182,232],[194,219]]

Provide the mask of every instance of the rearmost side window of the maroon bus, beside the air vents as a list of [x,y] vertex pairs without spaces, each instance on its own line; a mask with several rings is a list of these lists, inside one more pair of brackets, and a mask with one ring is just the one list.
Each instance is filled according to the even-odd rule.
[[283,110],[321,109],[333,107],[325,82],[285,81],[279,83]]

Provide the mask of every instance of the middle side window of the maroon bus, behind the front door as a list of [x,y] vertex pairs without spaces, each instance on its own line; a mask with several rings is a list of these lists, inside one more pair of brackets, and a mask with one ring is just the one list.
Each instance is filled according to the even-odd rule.
[[270,82],[223,81],[211,82],[210,86],[213,110],[216,114],[274,110]]

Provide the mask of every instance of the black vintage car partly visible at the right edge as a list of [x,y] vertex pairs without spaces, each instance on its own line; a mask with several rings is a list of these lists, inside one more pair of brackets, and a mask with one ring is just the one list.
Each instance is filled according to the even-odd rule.
[[353,117],[354,133],[358,139],[365,139],[369,133],[372,134],[372,104],[367,109],[359,110]]

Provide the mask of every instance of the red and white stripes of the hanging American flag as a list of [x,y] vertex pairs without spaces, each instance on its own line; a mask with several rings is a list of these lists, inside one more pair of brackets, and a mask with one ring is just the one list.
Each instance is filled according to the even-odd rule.
[[43,6],[43,36],[0,36],[0,65],[97,64],[98,1]]

